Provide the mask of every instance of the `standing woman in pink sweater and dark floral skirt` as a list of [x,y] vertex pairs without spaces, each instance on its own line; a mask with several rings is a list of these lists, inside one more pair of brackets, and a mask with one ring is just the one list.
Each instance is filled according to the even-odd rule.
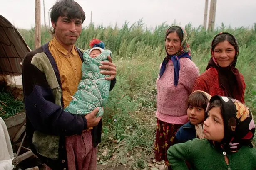
[[167,56],[160,65],[157,78],[156,161],[168,164],[167,149],[173,144],[176,131],[187,122],[186,100],[192,92],[199,69],[191,61],[186,31],[170,27],[165,34]]

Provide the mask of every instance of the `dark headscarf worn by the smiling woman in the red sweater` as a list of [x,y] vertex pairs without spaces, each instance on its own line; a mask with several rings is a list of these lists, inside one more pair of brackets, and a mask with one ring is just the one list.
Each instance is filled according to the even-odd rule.
[[[213,43],[215,39],[221,34],[227,34],[231,36],[236,43],[236,46],[234,46],[236,50],[236,56],[234,58],[234,61],[226,68],[220,67],[216,59],[214,58]],[[228,32],[221,32],[217,34],[211,42],[211,59],[208,63],[206,70],[208,70],[211,67],[216,68],[219,75],[219,85],[224,90],[225,96],[241,101],[244,89],[241,82],[239,70],[235,68],[238,54],[239,54],[239,47],[235,37]]]

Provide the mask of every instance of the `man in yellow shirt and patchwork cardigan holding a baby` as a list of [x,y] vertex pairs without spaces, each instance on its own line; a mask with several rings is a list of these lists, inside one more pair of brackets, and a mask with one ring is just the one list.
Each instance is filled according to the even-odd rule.
[[[26,133],[30,148],[53,170],[96,170],[101,142],[99,109],[86,116],[63,111],[81,80],[82,53],[74,44],[85,12],[73,0],[60,0],[51,11],[54,38],[27,53],[22,68]],[[102,74],[116,82],[116,66],[103,62]]]

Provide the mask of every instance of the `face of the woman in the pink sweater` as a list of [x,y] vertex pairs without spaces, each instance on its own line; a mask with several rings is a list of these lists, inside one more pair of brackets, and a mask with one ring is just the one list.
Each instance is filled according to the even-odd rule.
[[165,48],[169,55],[174,55],[178,52],[181,45],[181,40],[176,32],[171,32],[165,39]]

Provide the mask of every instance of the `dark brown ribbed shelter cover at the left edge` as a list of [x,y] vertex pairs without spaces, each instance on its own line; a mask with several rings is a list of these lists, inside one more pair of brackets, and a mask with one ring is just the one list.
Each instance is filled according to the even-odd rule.
[[29,51],[20,32],[0,15],[0,74],[20,75],[23,59]]

